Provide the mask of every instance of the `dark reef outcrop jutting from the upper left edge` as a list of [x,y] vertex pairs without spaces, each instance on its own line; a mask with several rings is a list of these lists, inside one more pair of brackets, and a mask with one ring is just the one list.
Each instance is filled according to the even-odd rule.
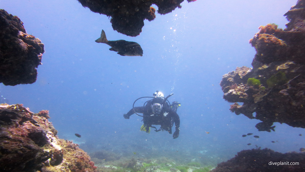
[[0,9],[0,83],[34,83],[43,53],[44,44],[27,34],[23,22]]

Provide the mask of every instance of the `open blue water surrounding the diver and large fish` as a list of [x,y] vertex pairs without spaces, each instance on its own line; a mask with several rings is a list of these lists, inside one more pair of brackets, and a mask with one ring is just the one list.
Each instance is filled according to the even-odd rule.
[[[283,14],[295,4],[296,0],[183,2],[181,9],[144,21],[140,36],[129,37],[113,31],[107,16],[76,0],[0,0],[0,8],[18,16],[27,33],[45,44],[37,81],[1,84],[0,92],[10,104],[22,103],[34,113],[49,110],[59,138],[73,140],[89,153],[137,152],[138,157],[217,164],[255,145],[299,151],[305,146],[304,129],[274,123],[276,132],[258,132],[255,124],[260,121],[231,113],[219,86],[222,75],[251,67],[256,52],[249,39],[258,27],[275,23],[285,28]],[[143,57],[120,56],[96,43],[102,29],[108,40],[139,43]],[[142,118],[135,114],[123,118],[135,99],[156,90],[165,96],[174,93],[170,102],[181,103],[177,139],[167,132],[141,132]],[[260,138],[242,137],[246,133]]]

